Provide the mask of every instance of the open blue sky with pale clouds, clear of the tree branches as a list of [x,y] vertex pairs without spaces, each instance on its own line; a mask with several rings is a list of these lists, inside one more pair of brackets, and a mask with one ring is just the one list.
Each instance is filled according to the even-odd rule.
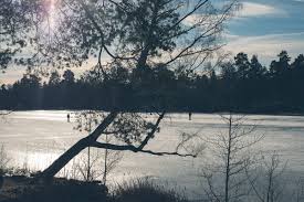
[[[304,0],[244,0],[242,9],[227,24],[224,50],[232,55],[258,54],[263,65],[286,50],[294,59],[304,53]],[[13,83],[24,70],[0,73],[0,82]]]

